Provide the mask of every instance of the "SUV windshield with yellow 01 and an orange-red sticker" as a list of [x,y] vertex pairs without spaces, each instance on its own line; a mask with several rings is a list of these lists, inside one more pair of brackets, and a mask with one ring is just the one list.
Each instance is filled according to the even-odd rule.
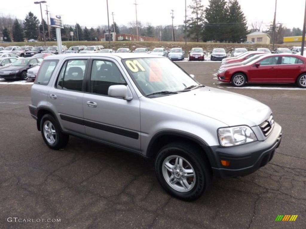
[[192,85],[199,85],[166,58],[135,58],[125,59],[122,62],[145,96],[156,92],[177,92]]

